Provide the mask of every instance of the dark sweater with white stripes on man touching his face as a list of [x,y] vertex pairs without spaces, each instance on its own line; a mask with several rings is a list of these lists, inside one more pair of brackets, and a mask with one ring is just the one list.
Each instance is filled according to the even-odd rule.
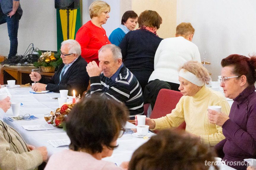
[[136,77],[125,66],[120,69],[119,75],[112,81],[101,72],[100,76],[90,77],[89,94],[102,93],[127,106],[130,117],[143,114],[143,97],[141,86]]

